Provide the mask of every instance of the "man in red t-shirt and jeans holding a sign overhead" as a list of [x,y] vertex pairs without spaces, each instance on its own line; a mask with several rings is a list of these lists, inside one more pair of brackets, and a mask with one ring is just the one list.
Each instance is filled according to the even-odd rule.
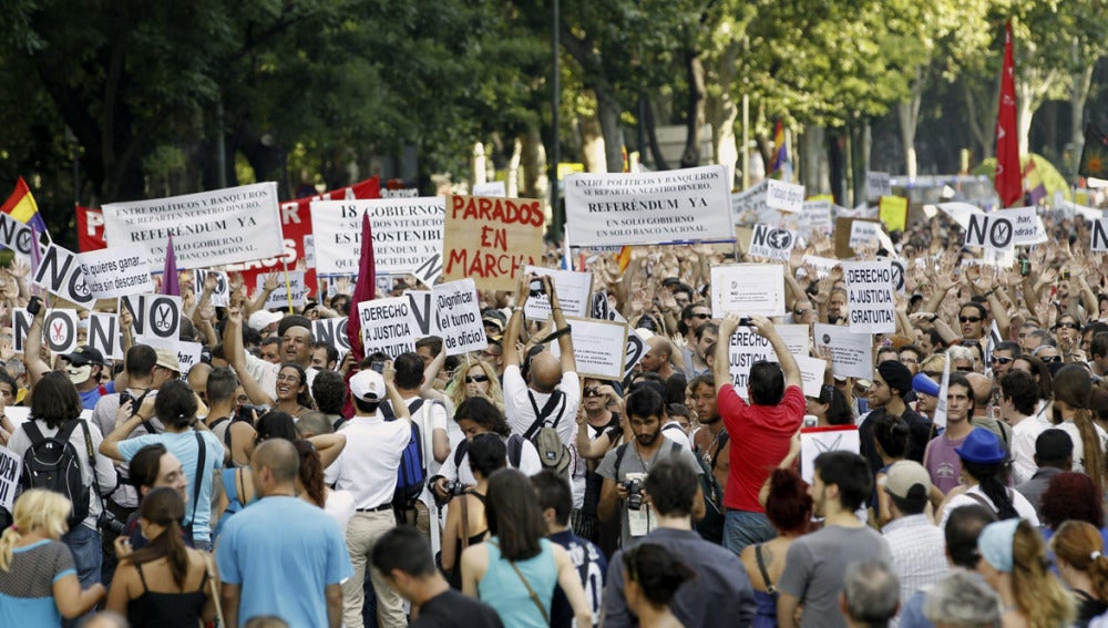
[[724,490],[724,506],[727,507],[724,545],[736,554],[777,535],[766,518],[765,506],[758,503],[758,492],[789,453],[789,443],[804,416],[800,368],[766,317],[750,317],[749,328],[769,340],[780,366],[756,362],[750,367],[747,378],[749,404],[735,392],[729,372],[729,348],[731,334],[738,327],[739,317],[735,313],[727,315],[720,323],[714,366],[717,408],[731,441],[731,472]]

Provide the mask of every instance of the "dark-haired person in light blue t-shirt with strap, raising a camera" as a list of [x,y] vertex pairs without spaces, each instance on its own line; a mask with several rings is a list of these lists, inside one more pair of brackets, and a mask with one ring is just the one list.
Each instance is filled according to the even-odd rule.
[[[115,430],[101,443],[100,453],[114,460],[131,462],[142,447],[154,443],[164,444],[166,450],[177,456],[188,476],[191,507],[185,513],[185,538],[197,549],[211,549],[213,496],[218,497],[223,490],[216,471],[223,466],[226,450],[207,425],[196,420],[197,403],[196,393],[182,380],[167,382],[156,398],[146,398],[133,414],[132,402],[125,403],[120,408]],[[155,415],[165,425],[164,433],[127,437],[138,425]]]

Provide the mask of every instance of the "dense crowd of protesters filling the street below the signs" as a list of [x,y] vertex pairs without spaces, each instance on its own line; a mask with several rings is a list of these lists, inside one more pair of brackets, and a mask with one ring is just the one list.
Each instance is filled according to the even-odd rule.
[[[896,330],[870,377],[829,359],[814,385],[778,326],[848,325],[819,233],[786,262],[737,251],[784,266],[773,319],[712,310],[726,247],[582,255],[645,340],[620,380],[578,371],[555,282],[522,272],[480,294],[462,356],[345,351],[314,322],[347,294],[278,312],[276,278],[234,281],[214,307],[184,272],[184,369],[127,312],[123,360],[40,350],[47,307],[0,269],[4,322],[35,312],[0,331],[0,625],[1108,625],[1108,264],[1083,220],[1044,220],[1008,268],[945,219],[856,251],[903,260]],[[777,356],[746,387],[740,327]],[[859,445],[804,460],[804,429]]]

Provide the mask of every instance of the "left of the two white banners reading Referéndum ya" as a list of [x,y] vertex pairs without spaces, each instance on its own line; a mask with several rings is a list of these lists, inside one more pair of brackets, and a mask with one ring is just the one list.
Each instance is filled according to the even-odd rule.
[[265,259],[283,251],[277,184],[273,182],[111,203],[103,210],[107,246],[145,245],[152,271],[162,270],[170,236],[178,269]]

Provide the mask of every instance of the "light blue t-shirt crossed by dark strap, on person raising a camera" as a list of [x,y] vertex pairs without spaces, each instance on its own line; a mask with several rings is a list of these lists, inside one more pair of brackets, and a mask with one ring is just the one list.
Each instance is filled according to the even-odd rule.
[[[207,445],[204,454],[204,477],[201,478],[201,498],[196,502],[196,521],[193,521],[193,496],[196,494],[194,482],[197,480],[196,463],[199,462],[199,449],[196,446],[196,435],[199,434]],[[165,449],[181,461],[181,466],[188,477],[188,487],[185,490],[188,495],[188,503],[185,504],[185,525],[193,524],[193,541],[212,541],[212,478],[215,473],[223,469],[223,443],[216,439],[212,432],[196,432],[189,430],[175,434],[164,432],[161,434],[143,434],[133,439],[127,439],[120,443],[120,455],[123,460],[131,462],[138,450],[146,445],[162,443]]]

